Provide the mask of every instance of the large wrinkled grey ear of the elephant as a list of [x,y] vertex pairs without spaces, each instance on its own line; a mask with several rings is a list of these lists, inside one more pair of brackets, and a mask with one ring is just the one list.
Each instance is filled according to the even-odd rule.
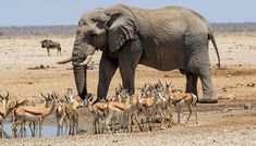
[[137,25],[129,8],[117,5],[105,12],[110,16],[105,26],[108,31],[108,49],[111,52],[119,50],[127,40],[137,38]]

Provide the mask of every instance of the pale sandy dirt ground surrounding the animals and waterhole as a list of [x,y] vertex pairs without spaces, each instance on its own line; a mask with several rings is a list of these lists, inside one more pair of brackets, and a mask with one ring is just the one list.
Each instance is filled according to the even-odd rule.
[[[57,57],[57,50],[40,48],[39,41],[49,38],[59,41],[63,56]],[[221,69],[217,69],[217,57],[210,45],[212,82],[219,97],[214,105],[198,105],[198,124],[195,117],[185,124],[187,115],[183,112],[182,124],[153,132],[117,134],[92,134],[92,114],[82,109],[80,127],[84,133],[75,136],[4,138],[0,145],[256,145],[256,34],[216,34],[221,57]],[[58,65],[56,62],[71,54],[74,36],[24,36],[0,37],[0,89],[9,90],[10,96],[33,96],[56,90],[63,95],[65,89],[75,89],[71,64]],[[98,62],[100,52],[96,52],[95,70],[88,70],[88,90],[96,93],[98,83]],[[146,82],[173,81],[174,87],[184,90],[185,76],[179,71],[161,72],[144,65],[136,69],[136,92]],[[115,73],[109,90],[121,83]],[[200,82],[198,82],[202,95]],[[249,105],[249,108],[246,108]],[[174,120],[176,119],[174,114]],[[53,115],[45,124],[53,123]]]

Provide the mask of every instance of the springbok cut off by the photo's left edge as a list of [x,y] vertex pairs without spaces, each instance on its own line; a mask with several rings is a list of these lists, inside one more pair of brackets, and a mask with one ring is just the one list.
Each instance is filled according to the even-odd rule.
[[7,117],[7,101],[9,100],[9,92],[7,92],[7,96],[2,96],[0,94],[1,99],[1,109],[0,109],[0,130],[1,130],[1,137],[4,137],[4,131],[3,131],[3,120]]

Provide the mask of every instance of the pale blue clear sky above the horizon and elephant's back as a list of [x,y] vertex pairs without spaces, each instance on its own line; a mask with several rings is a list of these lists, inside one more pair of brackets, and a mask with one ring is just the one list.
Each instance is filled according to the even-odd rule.
[[145,9],[180,5],[209,22],[256,22],[255,0],[1,0],[0,26],[76,25],[86,11],[125,3]]

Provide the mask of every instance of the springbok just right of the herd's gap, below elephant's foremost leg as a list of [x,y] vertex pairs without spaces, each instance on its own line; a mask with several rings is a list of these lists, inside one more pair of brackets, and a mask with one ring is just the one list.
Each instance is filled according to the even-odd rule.
[[97,99],[96,96],[93,96],[92,94],[89,94],[88,99],[87,99],[87,108],[94,114],[93,132],[95,134],[98,134],[98,133],[103,133],[103,123],[101,126],[101,131],[100,131],[99,124],[100,124],[100,120],[103,121],[105,119],[105,115],[106,115],[105,109],[106,109],[107,102],[99,101],[99,102],[94,104],[96,99]]

